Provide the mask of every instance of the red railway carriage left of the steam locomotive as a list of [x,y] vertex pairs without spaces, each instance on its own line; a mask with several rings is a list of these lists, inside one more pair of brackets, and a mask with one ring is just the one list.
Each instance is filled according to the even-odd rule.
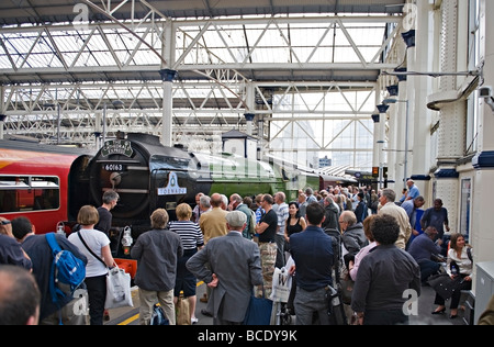
[[55,232],[69,220],[69,171],[81,155],[78,148],[0,141],[0,215],[23,215],[36,233]]

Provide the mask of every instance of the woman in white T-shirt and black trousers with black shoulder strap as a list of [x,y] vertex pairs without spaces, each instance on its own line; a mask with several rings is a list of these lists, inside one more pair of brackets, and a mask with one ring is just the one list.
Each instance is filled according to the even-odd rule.
[[[88,258],[85,283],[88,288],[91,325],[103,325],[106,273],[108,268],[113,267],[115,264],[110,249],[110,238],[103,232],[94,228],[98,221],[99,213],[94,206],[85,205],[80,208],[77,215],[77,223],[80,224],[80,230],[68,237],[68,240],[77,246]],[[102,258],[104,264],[98,258]]]

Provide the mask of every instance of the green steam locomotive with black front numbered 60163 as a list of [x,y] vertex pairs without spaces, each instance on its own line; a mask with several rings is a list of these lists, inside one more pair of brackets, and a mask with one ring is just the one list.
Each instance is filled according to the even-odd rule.
[[206,155],[166,147],[147,134],[127,134],[106,142],[89,160],[78,158],[70,169],[69,215],[83,204],[101,204],[102,194],[114,190],[120,201],[112,210],[114,226],[147,228],[150,213],[195,203],[203,192],[243,197],[283,191],[295,199],[299,189],[319,187],[319,177],[294,166],[250,160],[233,154]]

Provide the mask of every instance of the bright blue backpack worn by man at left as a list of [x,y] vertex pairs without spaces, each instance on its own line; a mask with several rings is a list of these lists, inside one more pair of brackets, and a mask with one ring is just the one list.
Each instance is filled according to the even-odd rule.
[[54,303],[58,304],[67,295],[72,295],[86,278],[86,265],[70,250],[61,249],[55,233],[45,235],[53,253],[49,273],[49,292]]

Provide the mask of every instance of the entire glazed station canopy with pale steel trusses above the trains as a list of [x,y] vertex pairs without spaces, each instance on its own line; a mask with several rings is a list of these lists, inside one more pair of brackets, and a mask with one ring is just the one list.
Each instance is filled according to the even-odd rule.
[[[164,102],[160,71],[169,68],[177,71],[176,142],[245,130],[247,83],[255,85],[252,113],[268,124],[277,117],[295,124],[287,121],[294,111],[304,121],[326,122],[324,104],[335,99],[304,100],[312,92],[338,93],[338,102],[348,105],[329,110],[329,116],[361,122],[374,105],[362,107],[362,100],[350,100],[362,97],[345,92],[373,90],[381,71],[396,67],[385,57],[404,5],[404,0],[2,0],[0,113],[8,133],[52,132],[53,138],[58,105],[61,136],[75,141],[76,133],[90,134],[96,126],[88,114],[110,105],[115,120],[109,134],[119,126],[156,134]],[[172,37],[166,36],[170,26]],[[134,122],[136,115],[145,122]],[[364,127],[372,127],[369,122]],[[269,146],[280,127],[257,135]],[[310,150],[333,150],[334,135],[306,135],[316,144]],[[352,146],[353,163],[345,163],[351,167],[356,152],[369,150],[355,141]]]

